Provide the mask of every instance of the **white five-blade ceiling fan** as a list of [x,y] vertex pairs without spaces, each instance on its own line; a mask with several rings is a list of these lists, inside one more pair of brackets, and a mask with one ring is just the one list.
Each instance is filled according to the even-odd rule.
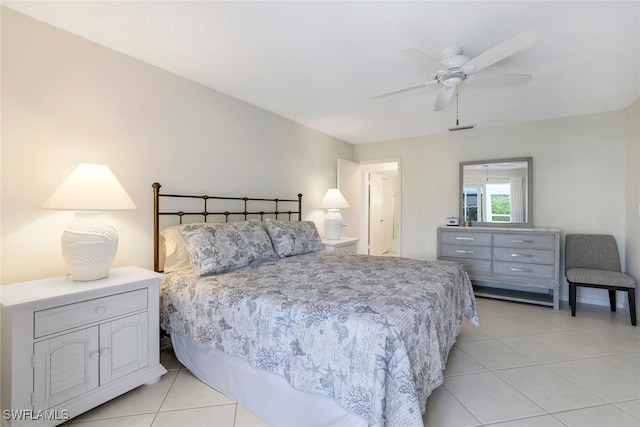
[[433,79],[417,85],[376,95],[373,96],[372,99],[386,98],[437,84],[440,85],[441,88],[433,109],[434,111],[440,111],[449,104],[456,89],[460,83],[463,82],[486,80],[485,77],[491,77],[492,80],[497,79],[498,83],[525,83],[531,80],[531,76],[528,74],[478,75],[476,73],[535,43],[543,34],[544,29],[542,28],[527,30],[475,58],[469,58],[463,55],[462,48],[458,46],[443,49],[440,52],[439,60],[418,49],[404,49],[402,50],[402,54],[418,64],[423,70],[430,73]]

